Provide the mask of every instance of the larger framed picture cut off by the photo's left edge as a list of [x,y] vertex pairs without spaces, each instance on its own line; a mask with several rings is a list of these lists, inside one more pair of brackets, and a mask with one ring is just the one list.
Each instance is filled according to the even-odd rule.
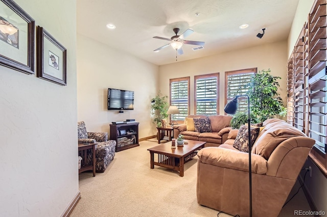
[[35,21],[12,0],[0,0],[0,65],[34,74]]

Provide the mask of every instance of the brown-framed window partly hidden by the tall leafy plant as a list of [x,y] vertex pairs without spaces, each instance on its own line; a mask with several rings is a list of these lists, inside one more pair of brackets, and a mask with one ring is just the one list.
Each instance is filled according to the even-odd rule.
[[[256,73],[256,68],[242,69],[236,71],[225,72],[225,105],[231,101],[236,95],[244,95],[248,91],[244,85],[250,82],[253,74]],[[238,112],[247,111],[247,99],[238,100]]]

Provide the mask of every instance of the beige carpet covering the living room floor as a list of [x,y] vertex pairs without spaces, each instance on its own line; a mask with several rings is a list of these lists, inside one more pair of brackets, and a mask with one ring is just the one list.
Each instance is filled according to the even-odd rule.
[[[104,173],[80,174],[81,200],[71,217],[217,216],[217,210],[197,203],[197,157],[185,164],[184,177],[159,166],[150,169],[147,149],[157,145],[142,141],[139,147],[117,152]],[[293,216],[294,209],[310,210],[303,198],[300,190],[279,216]],[[230,215],[219,214],[225,216]]]

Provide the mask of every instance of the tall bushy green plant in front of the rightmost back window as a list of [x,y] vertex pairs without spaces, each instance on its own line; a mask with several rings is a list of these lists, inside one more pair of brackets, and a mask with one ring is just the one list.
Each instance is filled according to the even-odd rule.
[[248,88],[251,112],[259,118],[259,122],[264,122],[272,115],[286,115],[287,109],[277,93],[277,79],[281,77],[270,75],[270,69],[262,70],[254,74],[250,83],[245,85],[245,88]]

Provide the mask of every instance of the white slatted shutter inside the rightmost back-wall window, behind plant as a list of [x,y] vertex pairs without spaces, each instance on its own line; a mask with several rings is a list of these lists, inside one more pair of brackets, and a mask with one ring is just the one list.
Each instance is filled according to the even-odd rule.
[[[227,102],[231,101],[236,95],[244,95],[248,91],[244,85],[250,83],[251,77],[254,72],[241,73],[241,74],[227,74]],[[238,100],[238,112],[247,112],[247,99],[240,98]]]

